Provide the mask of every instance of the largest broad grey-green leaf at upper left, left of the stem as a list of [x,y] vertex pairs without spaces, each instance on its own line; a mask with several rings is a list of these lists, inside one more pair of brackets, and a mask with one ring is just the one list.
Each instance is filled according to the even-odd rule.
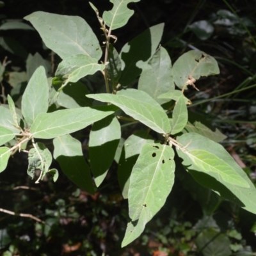
[[97,37],[81,17],[34,12],[24,19],[33,24],[45,45],[62,59],[76,54],[88,55],[97,60],[102,56]]

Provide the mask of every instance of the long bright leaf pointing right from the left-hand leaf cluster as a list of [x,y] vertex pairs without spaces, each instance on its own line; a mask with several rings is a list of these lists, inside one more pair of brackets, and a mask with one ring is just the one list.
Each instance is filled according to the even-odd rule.
[[97,106],[42,113],[36,117],[30,132],[34,138],[56,138],[79,131],[93,122],[113,114],[116,110],[118,108],[115,106]]

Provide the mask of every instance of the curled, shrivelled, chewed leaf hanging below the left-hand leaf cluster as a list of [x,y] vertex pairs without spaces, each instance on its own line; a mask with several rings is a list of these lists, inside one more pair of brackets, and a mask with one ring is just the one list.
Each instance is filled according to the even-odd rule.
[[52,154],[49,149],[45,147],[44,143],[35,143],[35,148],[31,148],[29,150],[28,175],[33,179],[35,176],[35,171],[39,169],[41,172],[38,180],[36,180],[36,183],[38,183],[39,180],[44,179],[45,174],[49,172],[51,163]]

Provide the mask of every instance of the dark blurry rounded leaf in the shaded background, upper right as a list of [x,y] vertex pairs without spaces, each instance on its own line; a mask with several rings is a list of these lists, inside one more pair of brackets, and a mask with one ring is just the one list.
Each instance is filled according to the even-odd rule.
[[201,40],[207,40],[214,31],[214,26],[208,20],[198,20],[189,25],[189,28]]

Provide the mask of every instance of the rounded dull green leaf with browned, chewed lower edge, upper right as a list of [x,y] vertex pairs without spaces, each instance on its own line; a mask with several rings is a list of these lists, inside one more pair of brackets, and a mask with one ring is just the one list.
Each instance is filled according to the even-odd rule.
[[173,64],[173,80],[180,89],[187,89],[193,79],[219,73],[217,61],[202,51],[186,52]]

